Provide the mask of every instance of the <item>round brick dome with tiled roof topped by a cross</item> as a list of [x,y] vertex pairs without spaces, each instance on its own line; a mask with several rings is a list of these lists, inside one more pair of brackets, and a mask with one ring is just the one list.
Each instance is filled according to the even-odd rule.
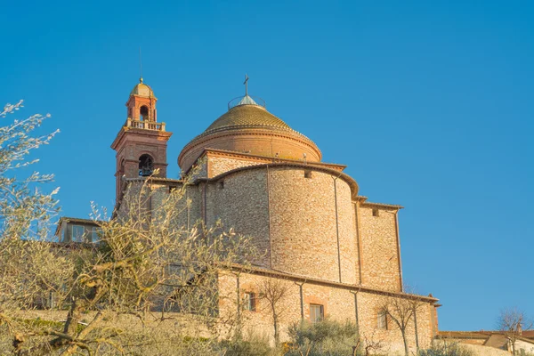
[[182,170],[189,170],[204,149],[320,161],[320,150],[312,140],[247,98],[245,96],[183,148],[178,158]]

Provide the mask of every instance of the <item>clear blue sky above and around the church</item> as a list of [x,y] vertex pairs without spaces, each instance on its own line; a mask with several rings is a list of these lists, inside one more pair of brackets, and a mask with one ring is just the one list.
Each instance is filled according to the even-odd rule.
[[[513,1],[28,2],[2,5],[0,99],[50,112],[39,151],[62,214],[113,206],[139,77],[182,147],[249,92],[370,201],[400,204],[404,277],[441,329],[534,316],[534,7]],[[311,237],[312,238],[312,237]]]

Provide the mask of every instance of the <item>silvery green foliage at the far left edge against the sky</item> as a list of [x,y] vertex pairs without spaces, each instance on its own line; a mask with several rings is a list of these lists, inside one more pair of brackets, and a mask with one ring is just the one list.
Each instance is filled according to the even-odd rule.
[[[22,101],[0,112],[0,334],[28,328],[17,312],[34,308],[50,295],[61,299],[73,266],[51,244],[50,219],[57,212],[52,192],[42,190],[53,175],[31,172],[32,152],[50,142],[52,134],[35,130],[49,115],[22,120],[12,115]],[[45,188],[45,187],[44,187]]]

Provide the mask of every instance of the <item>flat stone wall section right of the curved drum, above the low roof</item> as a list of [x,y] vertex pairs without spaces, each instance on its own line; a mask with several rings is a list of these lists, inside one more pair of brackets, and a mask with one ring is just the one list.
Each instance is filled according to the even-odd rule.
[[[401,290],[396,208],[357,203],[360,233],[361,284]],[[375,216],[373,211],[375,210]]]

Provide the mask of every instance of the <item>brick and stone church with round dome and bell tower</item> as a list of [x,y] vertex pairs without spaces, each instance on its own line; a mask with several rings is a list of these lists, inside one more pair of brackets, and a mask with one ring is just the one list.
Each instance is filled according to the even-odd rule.
[[[158,119],[157,101],[141,78],[126,102],[124,125],[111,144],[117,152],[116,211],[130,182],[151,179],[169,190],[182,184],[166,177],[172,135],[167,128],[172,127]],[[206,130],[178,156],[183,173],[198,163],[201,169],[188,189],[188,226],[220,220],[252,237],[264,252],[252,268],[222,273],[217,282],[221,293],[239,293],[254,328],[271,333],[270,315],[256,296],[259,282],[276,279],[289,290],[280,320],[282,341],[290,323],[329,318],[350,320],[360,334],[384,341],[391,351],[402,350],[401,330],[381,310],[384,298],[419,303],[406,328],[411,351],[429,346],[438,335],[438,299],[403,289],[402,206],[360,196],[345,166],[322,162],[319,147],[271,114],[263,100],[246,89],[221,117],[206,119]],[[61,242],[87,242],[97,229],[91,220],[62,217],[56,234]],[[222,302],[219,308],[235,306]]]

